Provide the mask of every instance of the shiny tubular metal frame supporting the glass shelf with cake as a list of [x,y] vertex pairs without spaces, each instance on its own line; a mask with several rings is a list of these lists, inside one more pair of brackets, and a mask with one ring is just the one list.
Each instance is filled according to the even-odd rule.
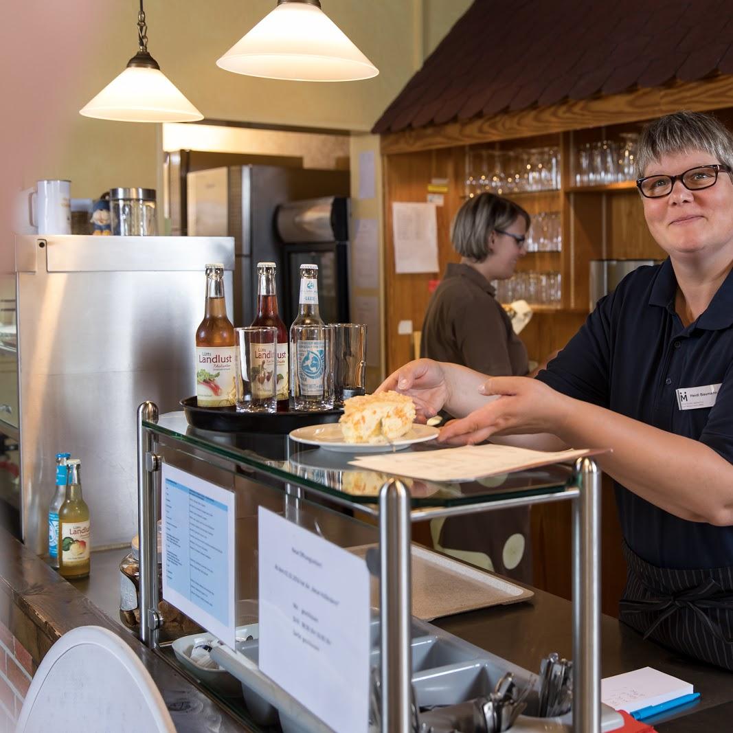
[[[150,649],[158,647],[157,490],[155,473],[162,460],[156,430],[158,408],[143,402],[137,411],[138,508],[140,536],[140,639]],[[180,440],[180,438],[178,438]],[[207,451],[205,442],[196,448]],[[216,454],[209,449],[211,454]],[[251,465],[232,463],[251,469]],[[550,501],[572,501],[572,659],[574,733],[600,732],[600,489],[601,473],[594,460],[575,462],[565,490],[534,496],[511,497],[450,507],[410,507],[410,494],[399,479],[389,479],[380,490],[378,507],[356,505],[312,487],[298,487],[312,497],[378,517],[380,552],[381,625],[381,730],[412,733],[416,730],[410,687],[410,523],[436,517],[475,514],[492,509],[528,507]]]

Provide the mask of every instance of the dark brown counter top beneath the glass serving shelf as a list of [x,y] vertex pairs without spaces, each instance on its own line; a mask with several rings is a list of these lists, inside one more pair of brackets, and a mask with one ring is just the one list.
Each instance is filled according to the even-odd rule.
[[[195,729],[204,733],[246,730],[117,623],[117,567],[127,553],[127,548],[92,553],[89,579],[72,585],[0,529],[0,592],[9,595],[16,608],[34,619],[51,641],[75,626],[86,624],[104,626],[125,638],[155,679],[166,704],[178,711],[172,714],[179,729],[191,730],[195,716],[198,726]],[[529,603],[472,611],[434,623],[533,671],[548,652],[559,652],[566,657],[572,652],[570,603],[537,589]],[[654,726],[659,733],[696,733],[729,727],[733,716],[731,673],[644,641],[611,616],[602,617],[601,638],[603,677],[652,666],[691,682],[701,693],[699,701],[688,709],[658,718]]]

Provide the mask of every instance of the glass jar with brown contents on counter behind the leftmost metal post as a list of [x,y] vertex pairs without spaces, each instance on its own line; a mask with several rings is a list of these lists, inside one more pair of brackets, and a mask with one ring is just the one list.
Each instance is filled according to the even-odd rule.
[[[161,523],[158,522],[158,603],[163,619],[159,630],[159,641],[174,641],[181,636],[202,632],[202,627],[191,621],[177,608],[163,600],[163,555]],[[130,542],[130,553],[119,563],[119,620],[136,632],[140,629],[140,543],[135,535]]]

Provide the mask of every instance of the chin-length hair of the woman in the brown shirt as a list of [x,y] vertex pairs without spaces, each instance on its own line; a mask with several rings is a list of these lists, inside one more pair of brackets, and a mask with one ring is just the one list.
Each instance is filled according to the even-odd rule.
[[483,262],[490,254],[489,235],[512,226],[517,217],[529,229],[529,214],[520,205],[495,194],[479,194],[460,207],[451,224],[453,248],[461,257]]

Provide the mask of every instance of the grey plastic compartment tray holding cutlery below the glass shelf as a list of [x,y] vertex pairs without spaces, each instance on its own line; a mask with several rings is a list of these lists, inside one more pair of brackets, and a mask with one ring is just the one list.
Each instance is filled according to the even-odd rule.
[[[537,674],[516,666],[507,660],[469,644],[432,624],[413,619],[410,650],[412,655],[412,680],[419,707],[452,705],[493,691],[498,679],[512,671],[515,681],[526,685],[534,680],[534,689],[527,697],[524,715],[512,726],[516,733],[570,733],[572,712],[560,718],[537,718]],[[370,627],[372,652],[371,665],[379,663],[379,622]],[[548,652],[552,651],[548,649]],[[229,671],[242,683],[242,693],[250,715],[260,725],[273,725],[279,721],[283,733],[327,733],[328,726],[315,718],[297,700],[284,692],[257,667],[259,640],[237,643],[237,652],[221,641],[212,649],[213,660]],[[539,670],[539,659],[537,660]],[[601,730],[603,733],[623,726],[618,712],[603,705]]]

